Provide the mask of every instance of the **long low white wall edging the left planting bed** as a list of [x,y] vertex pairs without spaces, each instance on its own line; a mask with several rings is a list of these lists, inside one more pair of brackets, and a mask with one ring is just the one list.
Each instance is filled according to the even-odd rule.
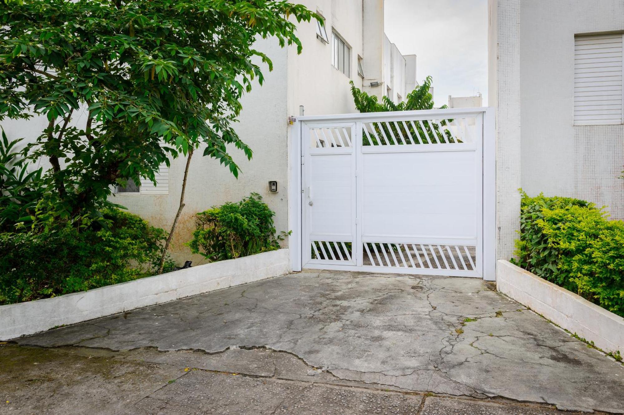
[[0,306],[0,340],[9,340],[258,280],[288,274],[288,249],[273,250],[27,303]]

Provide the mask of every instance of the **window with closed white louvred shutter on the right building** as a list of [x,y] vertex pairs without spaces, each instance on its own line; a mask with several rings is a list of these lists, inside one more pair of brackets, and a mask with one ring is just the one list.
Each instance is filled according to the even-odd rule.
[[575,36],[574,123],[624,123],[624,34]]

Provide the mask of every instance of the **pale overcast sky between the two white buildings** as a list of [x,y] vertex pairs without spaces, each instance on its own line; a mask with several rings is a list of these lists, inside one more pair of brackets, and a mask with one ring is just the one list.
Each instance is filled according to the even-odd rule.
[[487,0],[386,0],[385,30],[416,76],[433,77],[436,107],[482,93],[487,105]]

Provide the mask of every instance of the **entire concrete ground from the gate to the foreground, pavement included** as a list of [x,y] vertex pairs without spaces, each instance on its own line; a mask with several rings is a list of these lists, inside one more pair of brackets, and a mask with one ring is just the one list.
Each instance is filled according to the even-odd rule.
[[308,271],[15,343],[22,413],[624,413],[621,363],[479,279]]

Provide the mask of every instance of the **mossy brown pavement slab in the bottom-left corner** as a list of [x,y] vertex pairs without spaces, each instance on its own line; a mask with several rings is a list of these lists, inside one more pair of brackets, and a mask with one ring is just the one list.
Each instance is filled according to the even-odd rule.
[[104,350],[0,347],[0,413],[116,414],[183,371]]

